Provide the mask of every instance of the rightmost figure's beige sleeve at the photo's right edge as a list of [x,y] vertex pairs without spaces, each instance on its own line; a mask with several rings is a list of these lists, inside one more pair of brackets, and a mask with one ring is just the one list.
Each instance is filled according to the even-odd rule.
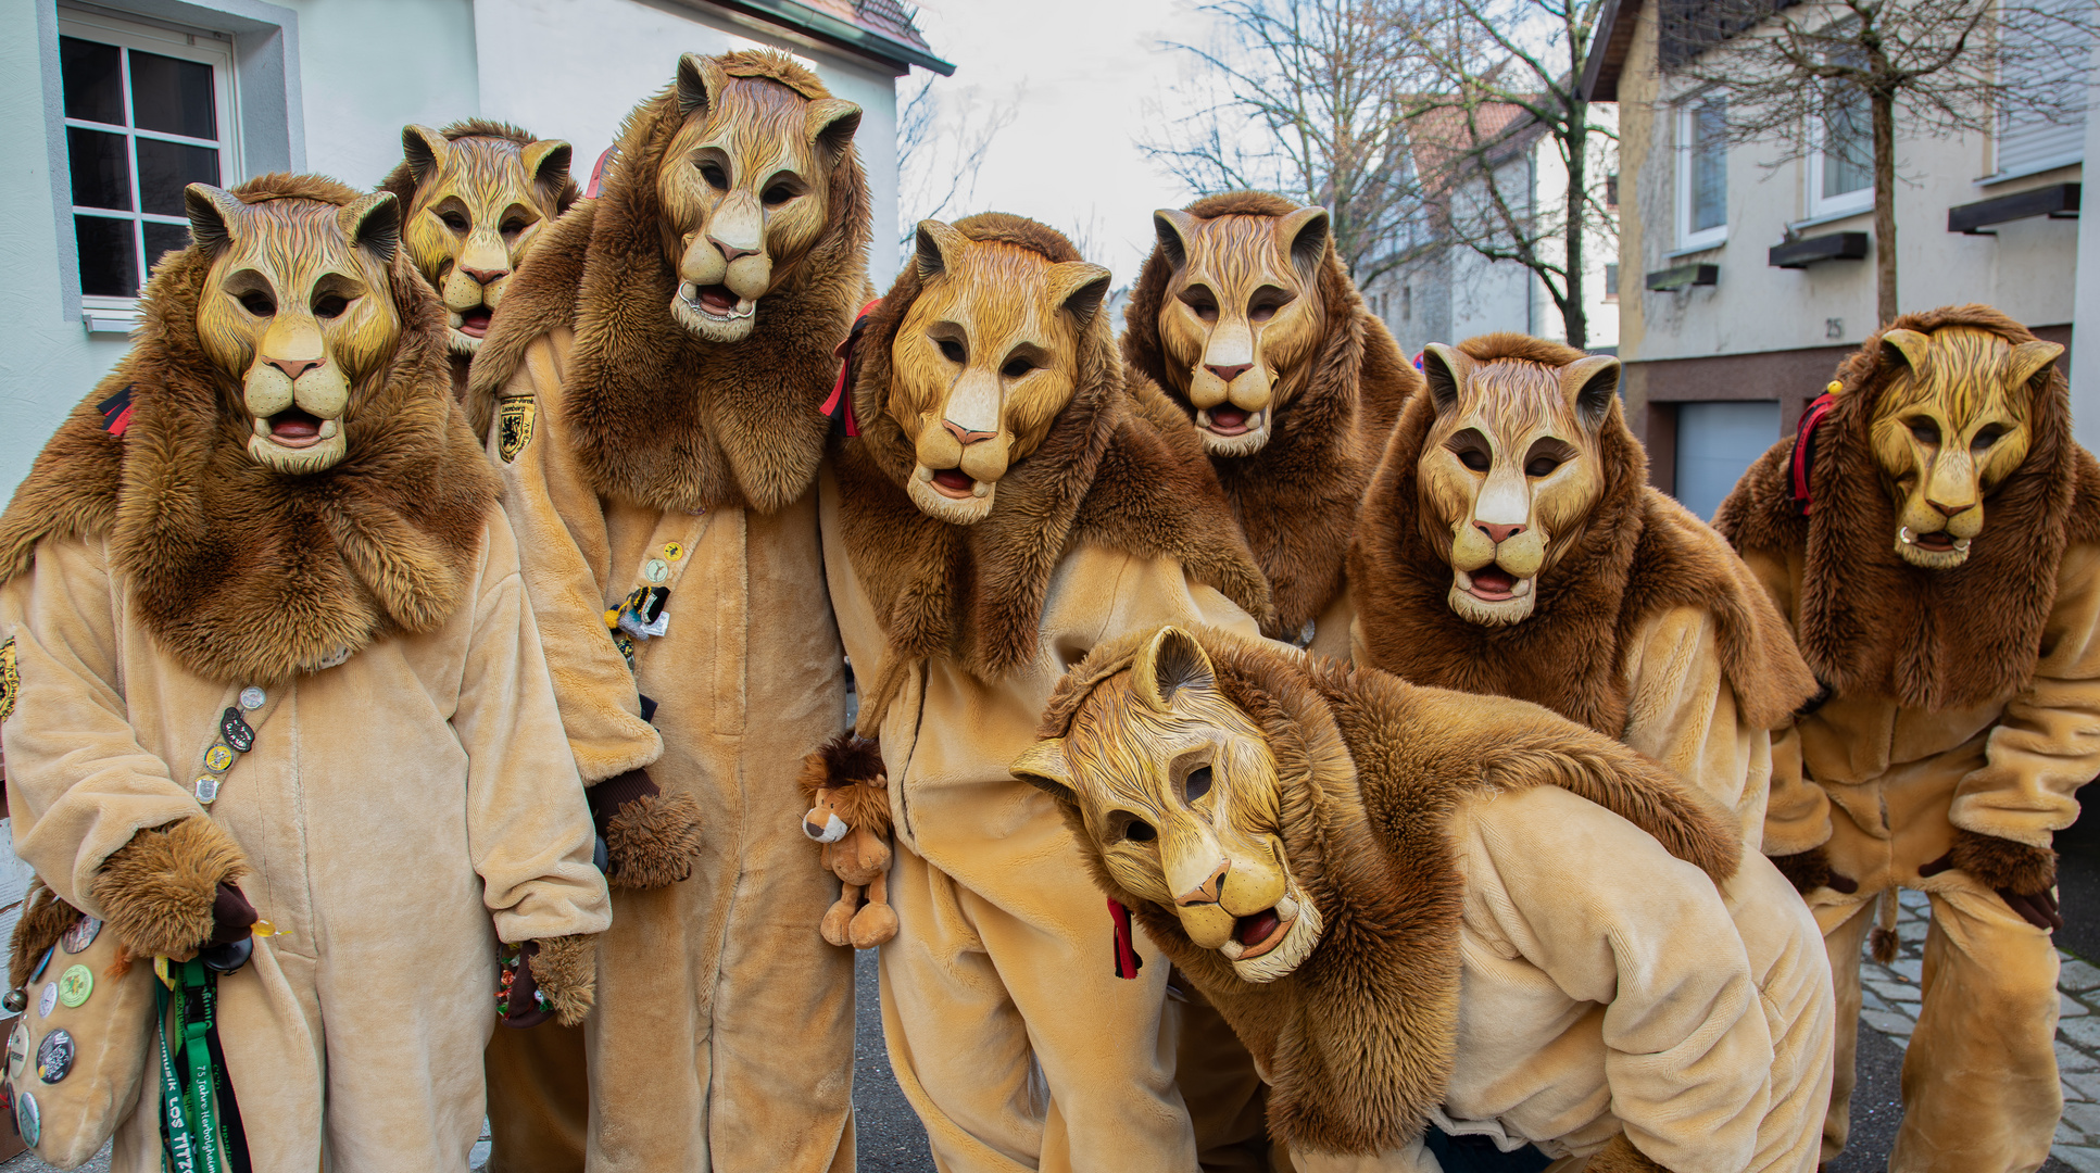
[[1955,787],[1949,818],[1982,835],[2048,848],[2079,816],[2100,772],[2100,548],[2064,550],[2056,609],[2035,678],[1991,730],[1984,764]]

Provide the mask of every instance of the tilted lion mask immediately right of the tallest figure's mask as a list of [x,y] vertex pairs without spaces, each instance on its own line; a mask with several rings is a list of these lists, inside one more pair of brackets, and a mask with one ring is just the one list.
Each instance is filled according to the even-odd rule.
[[1109,271],[939,220],[920,222],[914,266],[922,292],[890,344],[888,413],[918,455],[905,491],[932,518],[974,525],[1071,403]]

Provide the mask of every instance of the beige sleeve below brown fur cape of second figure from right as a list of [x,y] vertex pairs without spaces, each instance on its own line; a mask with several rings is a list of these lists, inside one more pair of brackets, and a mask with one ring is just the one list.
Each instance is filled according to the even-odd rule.
[[1625,678],[1632,701],[1619,741],[1709,799],[1756,848],[1764,839],[1772,734],[1749,728],[1737,711],[1714,617],[1699,606],[1651,617],[1628,642]]

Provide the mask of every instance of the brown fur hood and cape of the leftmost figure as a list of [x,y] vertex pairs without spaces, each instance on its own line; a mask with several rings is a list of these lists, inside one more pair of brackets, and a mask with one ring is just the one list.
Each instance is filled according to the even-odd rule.
[[[271,174],[248,204],[361,193]],[[349,455],[281,474],[248,455],[242,386],[206,357],[197,300],[210,258],[168,256],[132,350],[59,426],[0,516],[0,581],[46,537],[107,539],[162,648],[227,682],[284,680],[399,632],[428,632],[475,575],[496,476],[452,403],[445,315],[405,252],[391,266],[401,340],[351,388]],[[99,405],[130,394],[109,430]]]

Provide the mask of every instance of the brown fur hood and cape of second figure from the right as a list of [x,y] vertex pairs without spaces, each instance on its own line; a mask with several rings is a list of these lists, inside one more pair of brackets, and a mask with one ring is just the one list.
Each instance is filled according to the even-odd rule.
[[[1506,357],[1483,342],[1460,348],[1476,361]],[[1705,522],[1648,487],[1648,457],[1617,401],[1598,428],[1604,493],[1579,539],[1539,575],[1531,617],[1508,627],[1462,619],[1447,602],[1451,564],[1430,541],[1438,522],[1424,512],[1418,487],[1434,420],[1428,394],[1401,413],[1350,550],[1357,615],[1376,667],[1415,684],[1533,701],[1617,739],[1630,697],[1625,640],[1663,611],[1699,606],[1714,617],[1722,671],[1751,726],[1779,728],[1814,695],[1808,665],[1749,567]]]

